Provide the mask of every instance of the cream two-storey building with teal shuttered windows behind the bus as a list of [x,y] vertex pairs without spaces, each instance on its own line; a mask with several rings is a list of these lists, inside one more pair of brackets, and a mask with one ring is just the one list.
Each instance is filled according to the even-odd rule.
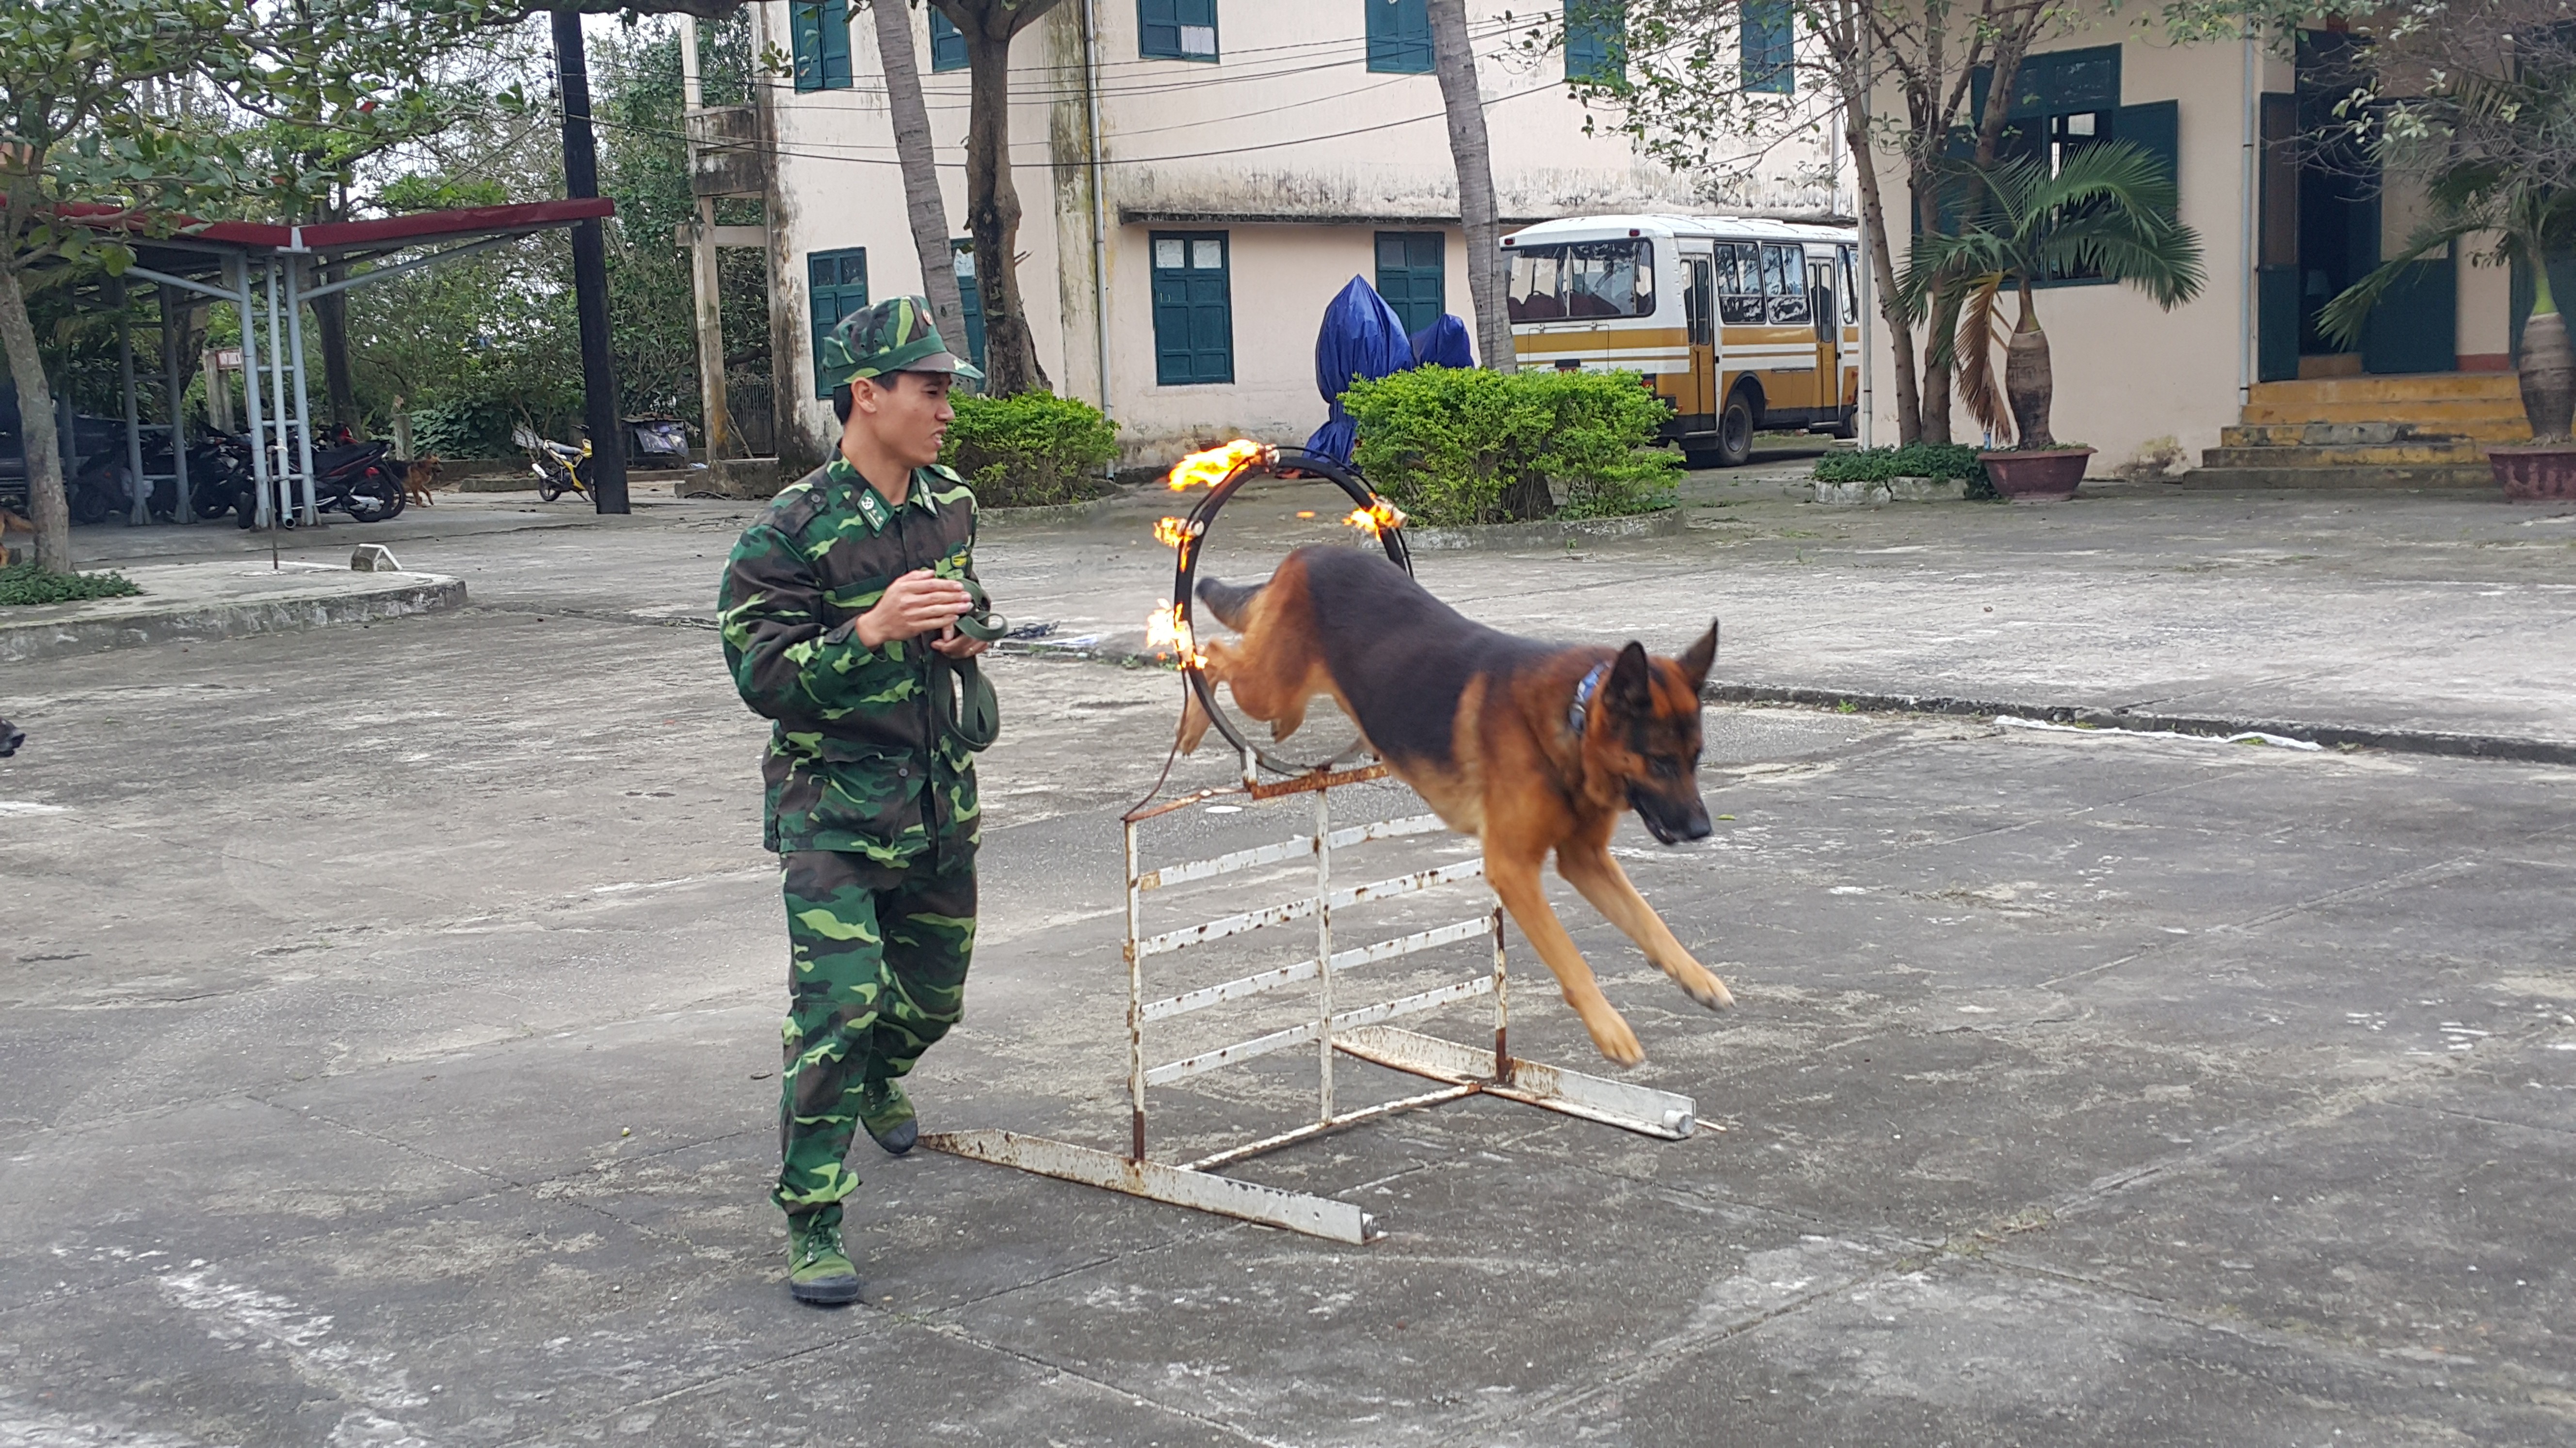
[[[806,453],[835,433],[811,340],[871,296],[920,289],[873,26],[845,0],[765,0],[755,36],[796,57],[765,95],[770,265],[783,428]],[[1747,139],[1723,183],[1636,157],[1566,72],[1618,64],[1579,21],[1525,52],[1530,5],[1468,0],[1504,224],[1592,211],[1850,214],[1829,103]],[[1747,36],[1765,88],[1788,82],[1780,26]],[[912,10],[922,88],[969,309],[981,258],[963,234],[966,54]],[[1759,52],[1759,54],[1757,54]],[[1303,441],[1324,420],[1314,338],[1363,276],[1409,327],[1471,317],[1458,188],[1422,0],[1064,0],[1012,46],[1020,291],[1054,389],[1100,402],[1128,459],[1252,435]],[[979,338],[979,319],[969,319]]]

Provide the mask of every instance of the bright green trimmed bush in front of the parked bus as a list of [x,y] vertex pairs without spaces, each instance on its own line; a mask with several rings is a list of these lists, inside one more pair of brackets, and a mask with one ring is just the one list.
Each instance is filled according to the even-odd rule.
[[1499,523],[1515,482],[1564,487],[1558,518],[1615,518],[1672,505],[1680,459],[1654,448],[1669,417],[1633,371],[1425,366],[1358,381],[1352,461],[1430,526]]

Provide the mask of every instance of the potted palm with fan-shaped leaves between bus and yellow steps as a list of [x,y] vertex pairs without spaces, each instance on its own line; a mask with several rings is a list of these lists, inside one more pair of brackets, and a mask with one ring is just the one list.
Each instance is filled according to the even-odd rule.
[[[1965,167],[1960,178],[1958,229],[1917,237],[1904,296],[1917,314],[1937,299],[1942,314],[1958,317],[1942,350],[1955,358],[1960,399],[1989,433],[2012,443],[1978,453],[1994,490],[2020,502],[2074,497],[2092,448],[2061,446],[2048,430],[2056,379],[2032,289],[2079,276],[2120,281],[2172,312],[2200,294],[2200,232],[2174,219],[2166,167],[2128,142],[2076,149],[2056,173],[2045,160],[2022,157]],[[2009,335],[2002,330],[2007,286],[2020,301]]]

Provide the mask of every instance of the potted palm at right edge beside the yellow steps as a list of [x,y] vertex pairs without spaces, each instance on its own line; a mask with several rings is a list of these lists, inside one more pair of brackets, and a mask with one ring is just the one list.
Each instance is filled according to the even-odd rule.
[[2532,446],[2488,448],[2486,461],[2509,500],[2576,500],[2576,443],[2568,441],[2576,353],[2550,289],[2550,258],[2576,250],[2576,36],[2543,26],[2509,33],[2501,52],[2488,49],[2491,36],[2463,26],[2398,41],[2452,52],[2437,57],[2452,67],[2427,67],[2434,75],[2427,95],[2396,100],[2378,119],[2380,165],[2391,175],[2424,178],[2424,222],[2406,250],[2326,304],[2318,330],[2347,348],[2360,345],[2370,309],[2411,265],[2455,242],[2494,237],[2470,260],[2522,265],[2532,278],[2532,314],[2522,322],[2514,366]]

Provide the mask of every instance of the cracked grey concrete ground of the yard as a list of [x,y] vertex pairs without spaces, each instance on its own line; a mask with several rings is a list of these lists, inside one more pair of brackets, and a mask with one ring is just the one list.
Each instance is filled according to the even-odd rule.
[[[1716,526],[1680,541],[1422,575],[1564,636],[1726,613],[1739,678],[2576,737],[2550,510],[1692,487]],[[1291,502],[1236,572],[1303,536]],[[1154,510],[997,526],[997,603],[1131,629]],[[1363,1203],[1368,1250],[860,1144],[868,1304],[796,1309],[760,724],[698,626],[742,513],[456,510],[399,551],[466,577],[461,613],[0,670],[31,732],[0,763],[0,1445],[2576,1438],[2576,770],[1976,719],[1710,709],[1718,835],[1620,853],[1728,1015],[1558,891],[1690,1141],[1466,1100],[1239,1170]],[[1177,685],[994,675],[969,1020],[914,1095],[1115,1144],[1115,814]],[[1602,1069],[1512,951],[1515,1049]],[[1172,1154],[1291,1123],[1311,1059],[1190,1085]]]

